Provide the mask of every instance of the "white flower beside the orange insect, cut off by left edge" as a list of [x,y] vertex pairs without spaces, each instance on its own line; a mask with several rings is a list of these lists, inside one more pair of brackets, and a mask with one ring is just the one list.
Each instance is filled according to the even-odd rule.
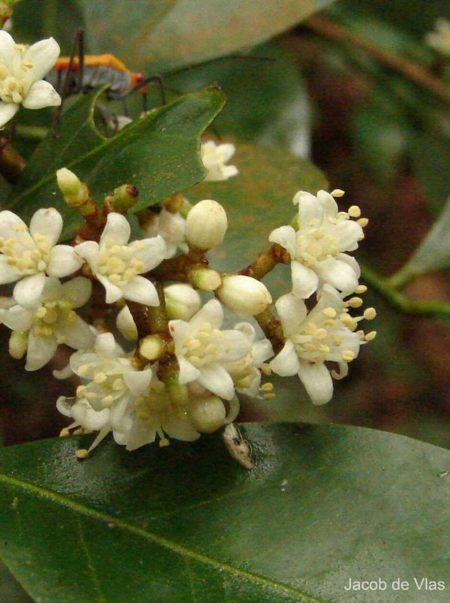
[[0,127],[19,110],[57,107],[61,97],[43,80],[59,57],[56,40],[40,40],[27,48],[0,31]]

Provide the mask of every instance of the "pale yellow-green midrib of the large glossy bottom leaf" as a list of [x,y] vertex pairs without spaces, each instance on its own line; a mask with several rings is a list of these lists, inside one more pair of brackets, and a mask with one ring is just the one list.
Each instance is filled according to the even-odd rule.
[[74,511],[77,511],[79,514],[83,514],[84,516],[91,517],[93,519],[100,520],[105,523],[113,523],[116,527],[123,529],[124,531],[131,532],[132,534],[139,535],[156,545],[162,546],[169,551],[175,552],[180,555],[180,557],[185,557],[191,560],[198,561],[203,563],[204,565],[208,565],[214,567],[214,569],[218,569],[221,571],[226,571],[229,573],[237,574],[241,578],[247,579],[249,581],[255,582],[255,584],[261,586],[269,586],[274,590],[279,590],[280,592],[284,592],[287,595],[296,596],[300,601],[305,601],[308,603],[326,603],[325,599],[317,599],[311,595],[301,592],[300,590],[294,589],[293,587],[286,586],[281,582],[274,581],[265,576],[261,576],[257,573],[248,572],[246,570],[239,569],[238,567],[233,567],[230,564],[223,563],[223,561],[218,561],[208,555],[204,555],[191,549],[186,548],[183,545],[179,545],[178,543],[169,540],[163,536],[158,534],[154,534],[153,532],[149,532],[148,530],[141,528],[139,526],[135,526],[132,523],[128,523],[122,519],[118,519],[117,517],[108,515],[107,513],[103,513],[102,511],[97,511],[96,509],[92,509],[86,507],[82,503],[77,500],[71,499],[69,496],[65,494],[60,494],[51,490],[46,490],[36,484],[32,484],[31,482],[24,481],[22,479],[13,478],[11,476],[5,475],[4,473],[0,473],[0,483],[3,482],[7,485],[13,485],[15,487],[20,487],[22,490],[28,491],[31,494],[35,494],[39,497],[45,497],[46,499],[54,502],[54,504],[59,504],[64,507],[71,508]]

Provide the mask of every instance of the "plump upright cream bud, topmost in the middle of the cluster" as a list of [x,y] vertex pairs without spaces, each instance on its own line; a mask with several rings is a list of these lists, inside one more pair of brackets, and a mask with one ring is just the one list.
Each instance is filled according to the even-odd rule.
[[212,199],[200,201],[186,218],[186,241],[191,247],[208,251],[223,241],[227,230],[227,215]]

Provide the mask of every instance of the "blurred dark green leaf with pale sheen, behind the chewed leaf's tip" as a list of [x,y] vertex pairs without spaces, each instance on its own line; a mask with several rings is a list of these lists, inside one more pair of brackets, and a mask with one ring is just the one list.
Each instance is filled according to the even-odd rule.
[[[164,78],[177,90],[199,90],[218,83],[227,97],[214,131],[246,142],[264,139],[285,148],[308,140],[309,101],[299,70],[274,43],[252,50],[250,57],[227,57]],[[297,142],[300,139],[300,144]],[[306,139],[306,141],[305,141]]]

